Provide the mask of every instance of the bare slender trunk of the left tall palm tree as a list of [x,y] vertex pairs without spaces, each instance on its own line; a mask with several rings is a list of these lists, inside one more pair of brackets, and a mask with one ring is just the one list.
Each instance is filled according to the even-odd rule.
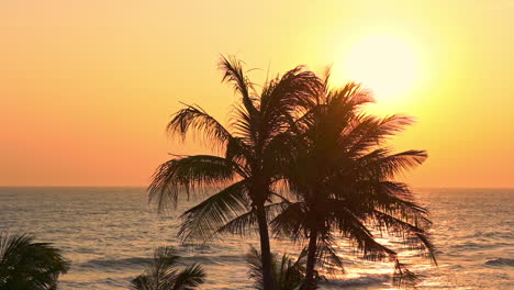
[[271,248],[269,245],[268,221],[264,204],[256,207],[257,222],[259,224],[260,255],[262,259],[264,290],[275,290],[275,281],[271,271]]

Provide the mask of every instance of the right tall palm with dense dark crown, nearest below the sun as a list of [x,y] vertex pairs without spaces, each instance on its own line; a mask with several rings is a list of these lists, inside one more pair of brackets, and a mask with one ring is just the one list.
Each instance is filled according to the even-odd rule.
[[306,113],[290,136],[289,146],[294,149],[283,172],[297,200],[271,223],[277,234],[309,241],[303,289],[315,289],[316,263],[343,267],[333,248],[336,236],[349,238],[366,259],[394,260],[398,282],[412,278],[396,253],[375,239],[371,228],[400,236],[413,248],[421,246],[435,261],[426,209],[413,201],[406,185],[393,181],[427,155],[424,150],[392,154],[382,147],[411,119],[361,113],[360,108],[370,101],[369,93],[355,83],[325,90],[305,102]]

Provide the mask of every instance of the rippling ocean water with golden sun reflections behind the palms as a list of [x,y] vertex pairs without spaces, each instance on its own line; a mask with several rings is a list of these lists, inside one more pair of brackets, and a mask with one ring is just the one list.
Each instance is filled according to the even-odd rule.
[[[420,289],[514,289],[514,190],[418,189],[431,210],[432,238],[438,266],[421,259],[401,243],[381,241],[400,250],[410,269],[421,274]],[[186,263],[204,266],[201,289],[250,289],[244,255],[257,237],[226,236],[209,244],[181,245],[177,216],[194,202],[165,215],[147,203],[144,188],[0,188],[0,232],[31,233],[64,250],[72,266],[60,278],[63,290],[128,289],[160,245],[174,245]],[[289,241],[272,250],[297,255]],[[340,241],[345,274],[322,289],[386,290],[393,265],[369,263]]]

